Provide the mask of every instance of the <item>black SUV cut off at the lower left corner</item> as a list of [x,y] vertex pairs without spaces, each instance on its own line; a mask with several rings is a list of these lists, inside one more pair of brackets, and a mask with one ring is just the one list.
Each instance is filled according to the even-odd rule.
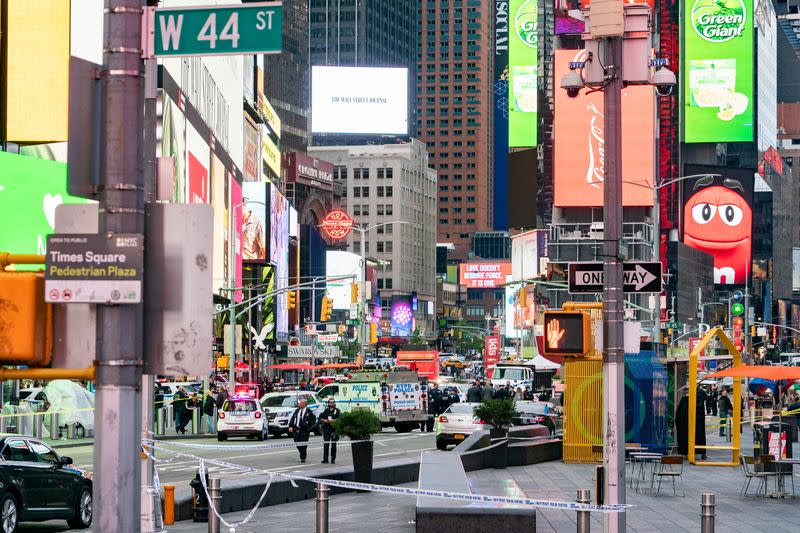
[[19,522],[59,518],[89,527],[92,477],[71,464],[37,439],[0,437],[0,533],[14,533]]

